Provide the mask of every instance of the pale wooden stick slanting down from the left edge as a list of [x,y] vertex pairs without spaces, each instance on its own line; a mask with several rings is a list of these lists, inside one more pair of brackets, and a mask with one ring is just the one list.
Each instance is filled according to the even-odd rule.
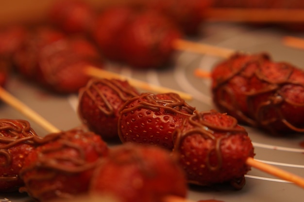
[[45,130],[48,132],[59,132],[60,130],[57,129],[55,126],[53,126],[51,123],[49,123],[47,120],[45,120],[43,117],[41,117],[39,114],[37,114],[35,111],[30,109],[28,106],[20,102],[17,98],[15,98],[12,94],[8,93],[5,89],[0,87],[0,98],[13,107],[14,109],[17,109],[19,112],[24,114],[25,116],[32,119],[35,123],[40,124]]

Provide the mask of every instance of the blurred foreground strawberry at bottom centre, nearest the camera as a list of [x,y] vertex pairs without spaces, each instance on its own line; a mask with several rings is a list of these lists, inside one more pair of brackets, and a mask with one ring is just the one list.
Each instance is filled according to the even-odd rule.
[[186,197],[186,176],[169,151],[126,143],[114,147],[96,169],[90,194],[110,195],[119,202],[160,202]]

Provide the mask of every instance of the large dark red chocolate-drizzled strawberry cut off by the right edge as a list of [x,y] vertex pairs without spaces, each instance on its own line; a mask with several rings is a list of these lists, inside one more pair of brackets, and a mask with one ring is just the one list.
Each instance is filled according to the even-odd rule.
[[272,134],[304,132],[304,71],[267,54],[235,54],[212,71],[222,112]]

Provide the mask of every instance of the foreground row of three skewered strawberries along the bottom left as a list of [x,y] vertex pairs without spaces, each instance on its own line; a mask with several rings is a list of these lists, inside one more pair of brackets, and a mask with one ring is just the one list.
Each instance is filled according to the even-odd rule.
[[80,128],[42,138],[27,121],[0,119],[0,159],[0,192],[19,189],[40,202],[104,193],[119,202],[155,202],[187,193],[185,173],[168,151],[108,148]]

